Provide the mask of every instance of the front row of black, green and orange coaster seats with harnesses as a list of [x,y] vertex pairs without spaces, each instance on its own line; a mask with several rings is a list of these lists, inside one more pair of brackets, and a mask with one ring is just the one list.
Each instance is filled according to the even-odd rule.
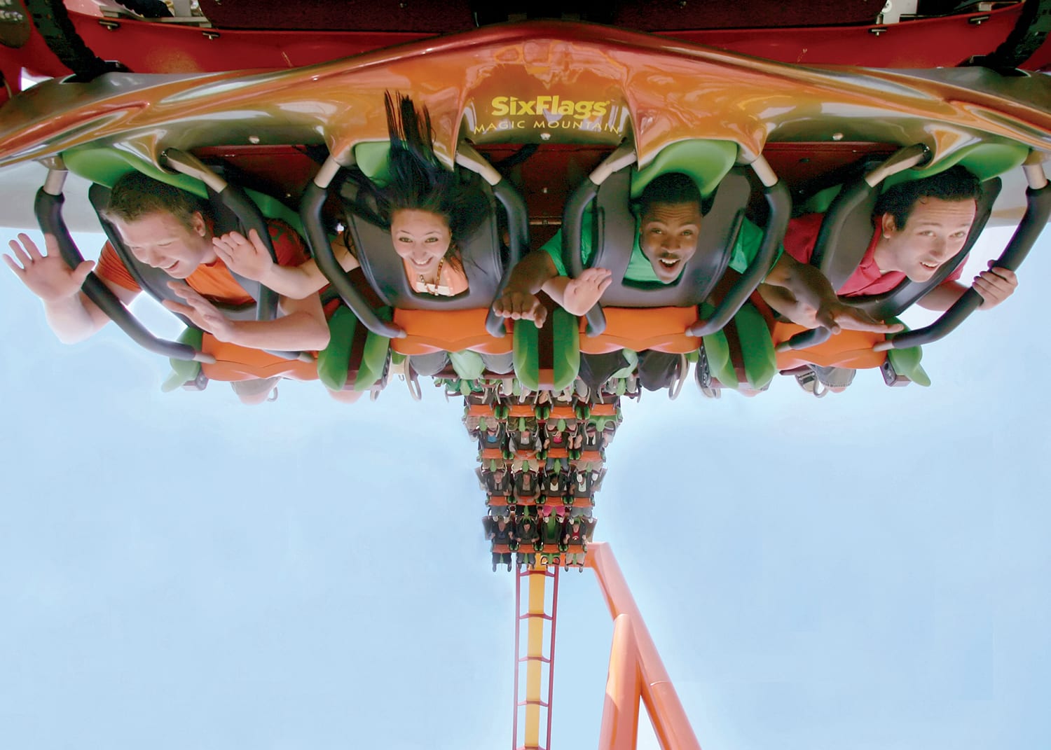
[[[380,144],[367,145],[371,148],[359,154],[368,154],[368,159],[360,160],[362,164],[373,165],[373,172],[382,171],[384,157],[382,153],[376,155],[377,150],[383,151]],[[420,293],[408,285],[400,259],[390,250],[389,230],[376,218],[374,207],[363,203],[353,187],[354,181],[342,183],[336,197],[362,265],[364,282],[358,278],[356,284],[332,257],[329,231],[322,216],[322,206],[330,197],[325,189],[327,186],[312,183],[296,215],[265,195],[246,197],[245,193],[227,183],[224,183],[223,190],[214,190],[207,175],[204,179],[200,176],[200,165],[194,165],[189,173],[169,174],[117,149],[84,147],[63,155],[70,170],[96,183],[92,202],[100,208],[106,201],[105,186],[112,184],[124,171],[139,169],[207,196],[215,208],[217,221],[224,226],[255,226],[261,215],[265,214],[283,217],[302,231],[320,268],[329,276],[334,293],[346,307],[341,307],[330,317],[333,329],[331,351],[326,350],[315,356],[284,353],[289,364],[276,370],[285,377],[306,379],[310,377],[310,368],[313,368],[314,376],[325,380],[331,390],[376,392],[386,383],[392,363],[408,357],[411,367],[413,355],[437,351],[465,355],[452,358],[449,371],[442,374],[467,381],[477,380],[487,374],[485,368],[479,366],[479,358],[472,358],[471,353],[511,353],[515,379],[523,389],[534,392],[558,393],[573,388],[580,370],[581,355],[621,350],[648,350],[695,359],[698,362],[698,381],[706,393],[742,386],[760,391],[769,384],[777,372],[797,371],[811,364],[882,368],[888,382],[895,384],[906,380],[926,380],[919,367],[919,351],[913,347],[893,348],[885,354],[872,352],[869,346],[864,350],[867,352],[865,356],[858,356],[856,340],[834,337],[816,348],[794,349],[802,343],[812,343],[812,338],[801,343],[798,327],[778,321],[754,294],[780,243],[791,210],[783,185],[777,182],[776,176],[771,179],[758,168],[756,172],[763,183],[760,192],[767,204],[762,250],[744,273],[735,277],[733,272],[725,270],[727,253],[754,192],[744,170],[735,166],[740,154],[736,144],[730,142],[686,141],[673,144],[641,170],[635,169],[631,163],[614,169],[614,166],[631,160],[624,160],[622,151],[612,154],[611,161],[604,165],[607,168],[596,170],[596,173],[601,172],[602,179],[595,182],[593,175],[568,202],[562,236],[563,259],[571,273],[577,275],[582,270],[579,229],[585,212],[591,212],[595,243],[591,265],[612,269],[613,283],[600,304],[592,308],[583,320],[555,309],[540,330],[532,325],[504,321],[490,308],[507,283],[510,269],[529,247],[528,215],[517,191],[498,174],[494,179],[495,170],[470,147],[463,147],[461,155],[465,158],[459,163],[468,166],[471,172],[468,179],[472,179],[488,196],[491,211],[487,221],[459,243],[469,289],[451,297]],[[922,173],[915,167],[894,171],[900,164],[922,161],[908,161],[908,158],[909,154],[895,154],[887,164],[880,165],[887,173],[883,182]],[[1018,146],[974,144],[971,148],[959,149],[952,160],[943,160],[936,165],[941,169],[950,166],[950,162],[963,164],[990,184],[985,191],[985,205],[980,206],[978,218],[960,261],[988,218],[991,200],[998,190],[998,183],[992,175],[1016,166],[1025,158],[1026,150]],[[178,160],[173,164],[180,166]],[[668,171],[691,175],[701,194],[712,201],[712,209],[701,227],[701,250],[675,284],[655,288],[653,285],[627,282],[623,274],[636,232],[630,202],[648,181]],[[866,173],[866,179],[843,186],[826,207],[825,225],[815,252],[815,263],[829,277],[838,277],[857,265],[859,248],[864,246],[859,242],[859,232],[870,231],[870,206],[881,187],[879,182],[869,184],[867,180],[871,173],[873,170]],[[53,211],[51,215],[47,215],[45,210],[42,224],[54,226],[56,213]],[[503,232],[501,225],[507,228]],[[139,274],[143,288],[158,298],[170,298],[171,292],[166,288],[163,272],[135,261],[122,248],[120,237],[111,228],[108,233],[129,269],[133,268]],[[506,243],[501,242],[501,234]],[[75,248],[73,254],[79,256]],[[952,265],[946,264],[947,269]],[[939,280],[940,277],[935,276],[926,287]],[[245,282],[246,289],[251,286]],[[907,307],[922,295],[926,287],[906,280],[899,288],[881,295],[880,299],[867,300],[866,309],[878,317],[890,318],[903,306]],[[104,290],[85,291],[104,296]],[[248,310],[230,310],[229,314],[257,318],[274,314],[273,294],[257,290],[252,296],[259,300],[257,305]],[[104,309],[108,311],[112,307],[110,303]],[[126,311],[118,311],[112,317],[137,340],[149,339]],[[865,337],[866,342],[875,338],[880,337]],[[778,348],[785,351],[778,353]],[[205,378],[236,379],[250,371],[238,361],[243,352],[224,351],[220,342],[200,332],[190,331],[182,340],[161,349],[173,354],[177,363],[190,362],[176,366],[173,382],[183,379],[187,383],[200,384]],[[201,357],[201,354],[206,356]],[[300,362],[307,364],[306,374]],[[273,371],[270,371],[265,376],[272,374]],[[511,415],[501,416],[507,418]]]

